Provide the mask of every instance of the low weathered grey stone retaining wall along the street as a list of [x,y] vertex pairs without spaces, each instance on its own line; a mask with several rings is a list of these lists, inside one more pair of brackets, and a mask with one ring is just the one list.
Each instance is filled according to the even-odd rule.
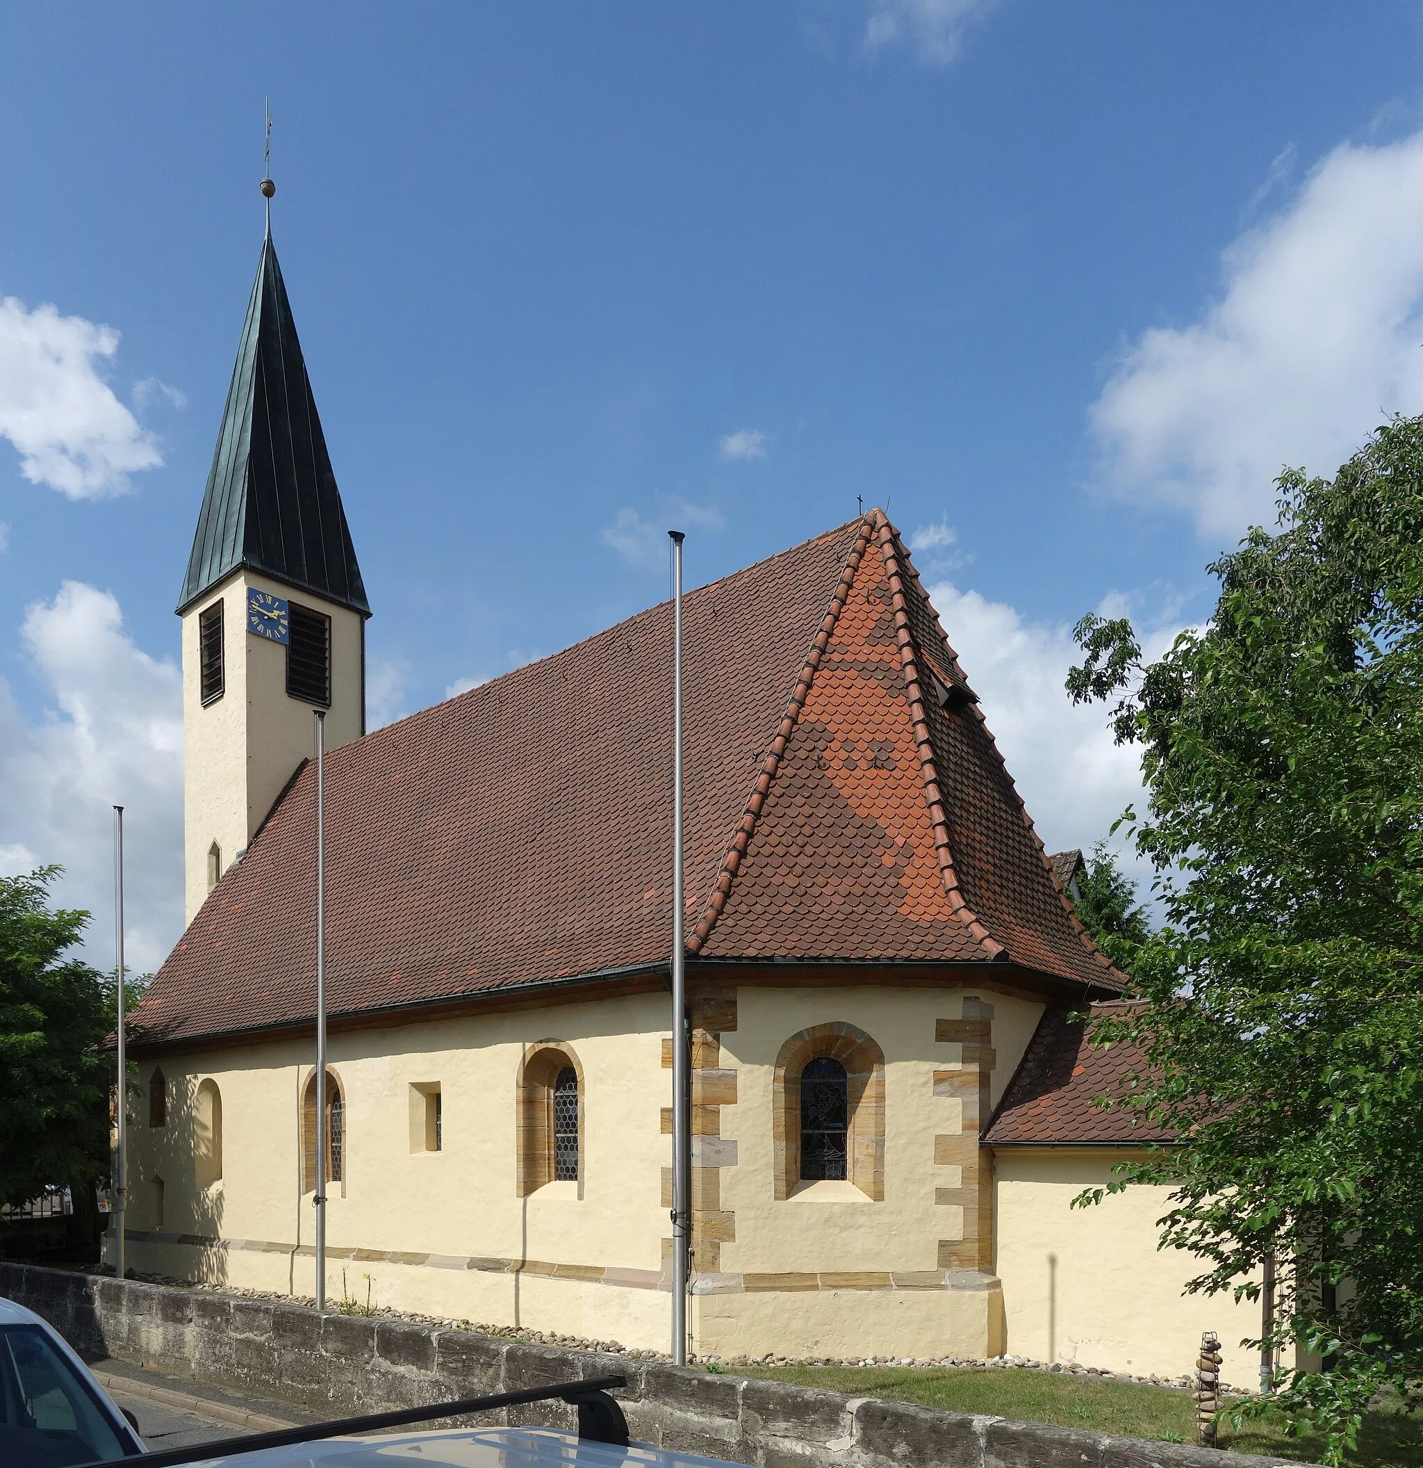
[[[43,1315],[79,1351],[333,1417],[625,1376],[616,1395],[635,1439],[763,1468],[1221,1468],[1221,1455],[1201,1447],[34,1265],[0,1264],[0,1295]],[[575,1425],[560,1402],[478,1422]],[[1298,1468],[1244,1455],[1229,1462]]]

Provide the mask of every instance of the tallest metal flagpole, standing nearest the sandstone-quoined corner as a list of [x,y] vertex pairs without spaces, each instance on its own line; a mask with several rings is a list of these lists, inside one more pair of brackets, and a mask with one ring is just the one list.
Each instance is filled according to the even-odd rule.
[[687,947],[682,940],[682,531],[672,537],[672,1359],[687,1365],[691,1262],[691,1107],[687,1053]]

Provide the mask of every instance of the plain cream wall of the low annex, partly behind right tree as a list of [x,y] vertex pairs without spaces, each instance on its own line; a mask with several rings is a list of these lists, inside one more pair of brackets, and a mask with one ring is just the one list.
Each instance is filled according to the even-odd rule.
[[1166,1189],[1133,1188],[1072,1208],[1084,1188],[1112,1180],[1119,1151],[1003,1148],[995,1160],[998,1273],[1008,1351],[1039,1361],[1137,1374],[1196,1368],[1201,1331],[1216,1330],[1223,1377],[1250,1387],[1259,1358],[1240,1340],[1259,1334],[1260,1307],[1229,1295],[1182,1295],[1194,1255],[1156,1248]]

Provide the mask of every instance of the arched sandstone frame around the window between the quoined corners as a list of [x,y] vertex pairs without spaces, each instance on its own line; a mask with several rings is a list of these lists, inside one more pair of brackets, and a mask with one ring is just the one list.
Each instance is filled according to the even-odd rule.
[[822,1057],[838,1060],[849,1083],[846,1177],[871,1202],[883,1202],[885,1051],[846,1020],[798,1031],[776,1055],[772,1080],[776,1201],[783,1202],[801,1185],[801,1072]]

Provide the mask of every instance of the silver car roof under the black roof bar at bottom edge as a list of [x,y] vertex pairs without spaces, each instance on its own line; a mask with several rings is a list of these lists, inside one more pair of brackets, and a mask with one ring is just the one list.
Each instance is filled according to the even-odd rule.
[[[214,1452],[216,1449],[216,1452]],[[222,1443],[208,1443],[204,1468],[392,1468],[406,1459],[412,1468],[729,1468],[722,1458],[698,1458],[648,1443],[596,1443],[577,1433],[530,1427],[456,1428],[439,1433],[400,1433],[373,1437],[327,1437],[267,1447],[255,1453],[222,1455]]]

